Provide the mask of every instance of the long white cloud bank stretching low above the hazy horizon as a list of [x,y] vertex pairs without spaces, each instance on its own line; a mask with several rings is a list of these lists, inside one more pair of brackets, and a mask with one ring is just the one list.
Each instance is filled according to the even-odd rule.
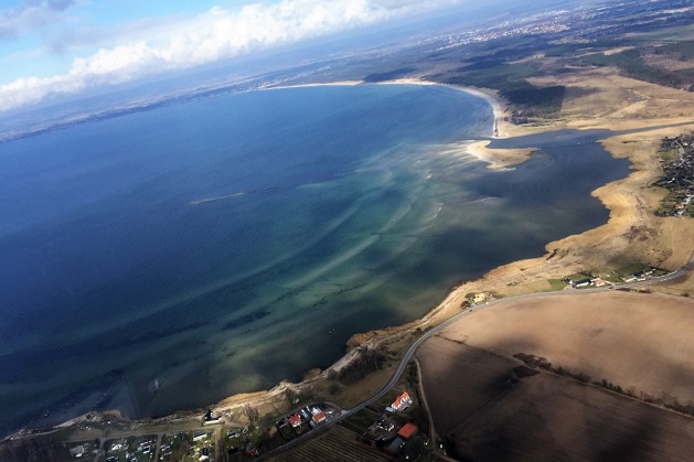
[[[456,0],[282,0],[253,3],[231,12],[215,7],[175,32],[102,49],[92,56],[74,60],[65,74],[25,77],[0,85],[0,110],[36,103],[51,94],[77,93],[105,84],[131,80],[142,75],[181,69],[228,58],[254,50],[318,37],[348,29],[374,24],[423,10],[451,4]],[[29,2],[68,6],[72,1]],[[1,21],[0,21],[1,24]]]

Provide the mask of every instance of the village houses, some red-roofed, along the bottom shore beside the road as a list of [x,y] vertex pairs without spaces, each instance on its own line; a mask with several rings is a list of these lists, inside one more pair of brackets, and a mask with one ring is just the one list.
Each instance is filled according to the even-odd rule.
[[[407,391],[391,391],[342,420],[338,418],[348,411],[333,404],[314,402],[286,413],[269,431],[253,423],[241,428],[229,426],[224,415],[207,410],[197,430],[79,441],[71,443],[68,449],[73,460],[99,462],[249,461],[308,433],[323,433],[338,419],[341,421],[332,423],[343,427],[341,431],[350,436],[357,451],[366,450],[385,460],[414,460],[429,441],[419,431],[421,423],[408,413],[413,407],[418,404]],[[312,441],[306,445],[316,452],[310,448]]]

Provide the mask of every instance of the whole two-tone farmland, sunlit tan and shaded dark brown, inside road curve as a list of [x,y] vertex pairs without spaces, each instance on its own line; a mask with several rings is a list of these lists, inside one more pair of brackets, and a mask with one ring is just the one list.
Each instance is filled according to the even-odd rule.
[[694,419],[663,407],[692,402],[693,325],[694,301],[654,293],[480,310],[417,353],[437,433],[463,460],[684,460]]

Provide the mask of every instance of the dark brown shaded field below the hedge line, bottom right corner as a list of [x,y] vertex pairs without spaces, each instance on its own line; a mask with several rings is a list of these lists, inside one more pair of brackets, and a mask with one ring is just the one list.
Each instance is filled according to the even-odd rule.
[[694,420],[562,377],[527,377],[453,430],[484,460],[686,460]]

